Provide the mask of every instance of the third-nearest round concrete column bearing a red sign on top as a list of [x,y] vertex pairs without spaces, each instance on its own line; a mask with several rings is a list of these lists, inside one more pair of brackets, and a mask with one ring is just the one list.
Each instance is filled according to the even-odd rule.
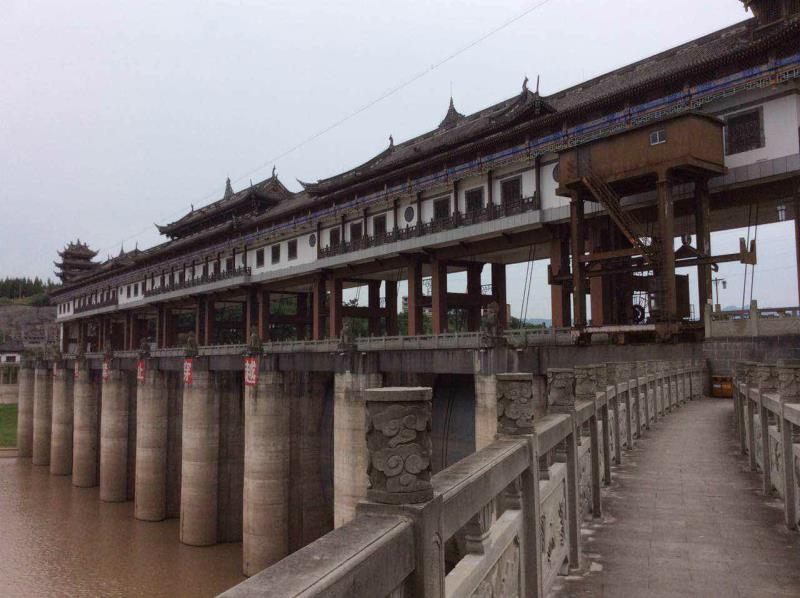
[[164,373],[145,363],[136,388],[134,516],[161,521],[167,515],[167,385]]

